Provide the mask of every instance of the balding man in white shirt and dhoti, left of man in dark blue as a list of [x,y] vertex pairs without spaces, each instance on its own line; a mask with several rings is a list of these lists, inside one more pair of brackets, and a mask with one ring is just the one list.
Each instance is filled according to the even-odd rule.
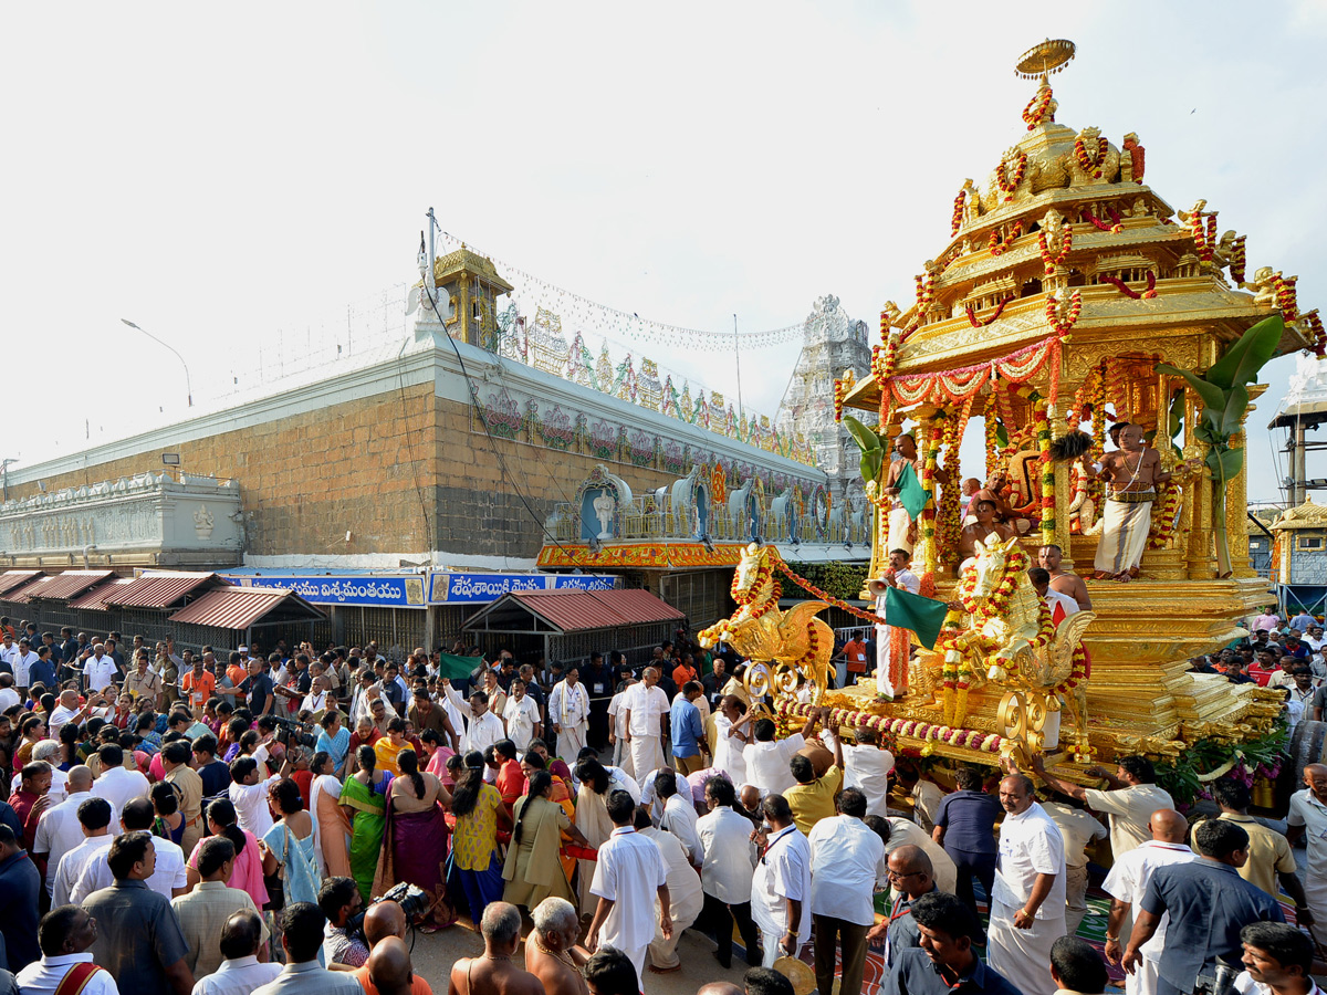
[[[1184,842],[1189,833],[1189,823],[1178,812],[1169,808],[1153,812],[1148,828],[1152,838],[1115,861],[1101,885],[1101,889],[1111,896],[1111,915],[1105,922],[1105,958],[1111,963],[1120,963],[1124,954],[1120,937],[1132,933],[1133,906],[1147,894],[1152,873],[1169,864],[1189,864],[1198,858],[1198,854]],[[1165,929],[1169,922],[1170,915],[1164,914],[1152,939],[1139,949],[1141,959],[1132,974],[1124,975],[1125,995],[1156,995],[1160,978],[1157,962],[1165,946]]]

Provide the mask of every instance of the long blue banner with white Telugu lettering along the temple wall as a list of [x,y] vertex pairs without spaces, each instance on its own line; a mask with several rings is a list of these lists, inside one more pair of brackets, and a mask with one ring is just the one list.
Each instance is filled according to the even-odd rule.
[[450,570],[395,577],[230,574],[227,578],[242,588],[293,590],[314,605],[374,608],[427,608],[430,604],[486,605],[512,590],[612,590],[617,582],[616,577],[580,573],[453,573]]

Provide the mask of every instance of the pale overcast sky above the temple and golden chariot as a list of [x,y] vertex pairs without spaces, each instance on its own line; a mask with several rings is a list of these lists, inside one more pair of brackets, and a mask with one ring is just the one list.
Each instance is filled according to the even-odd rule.
[[[1137,131],[1172,207],[1206,198],[1249,235],[1250,275],[1298,273],[1302,308],[1327,305],[1320,1],[65,3],[5,20],[0,322],[21,393],[0,458],[21,463],[183,414],[179,362],[121,317],[216,403],[255,382],[260,349],[271,370],[417,279],[429,206],[642,317],[778,328],[835,293],[874,326],[943,244],[962,179],[1022,134],[1035,84],[1013,62],[1047,36],[1079,45],[1052,78],[1062,122]],[[735,394],[727,354],[633,348]],[[772,417],[795,360],[750,354],[747,405]],[[1259,426],[1292,369],[1269,367],[1250,419],[1251,498],[1279,496]]]

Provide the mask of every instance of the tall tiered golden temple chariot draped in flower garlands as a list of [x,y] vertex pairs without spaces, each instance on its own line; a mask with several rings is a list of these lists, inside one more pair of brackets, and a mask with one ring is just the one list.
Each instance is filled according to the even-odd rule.
[[[1242,451],[1258,370],[1320,356],[1327,336],[1299,312],[1295,277],[1246,280],[1245,236],[1218,236],[1206,202],[1176,211],[1147,186],[1137,135],[1056,122],[1048,77],[1072,56],[1059,40],[1019,61],[1039,78],[1020,135],[985,182],[962,183],[912,306],[885,305],[869,375],[835,381],[876,515],[868,577],[878,588],[910,568],[947,609],[940,635],[882,630],[890,696],[874,678],[824,693],[812,666],[795,669],[841,723],[904,748],[1024,768],[1046,755],[1083,776],[1089,760],[1249,740],[1279,715],[1275,693],[1190,674],[1188,659],[1237,638],[1266,600]],[[981,467],[959,463],[973,434]],[[1034,589],[1027,570],[1051,545],[1063,563],[1047,565],[1082,578],[1082,610]],[[892,565],[896,551],[910,563]],[[731,622],[751,614],[739,598]],[[751,679],[772,682],[782,723],[812,696],[782,690],[805,642],[792,635],[752,657],[774,661]]]

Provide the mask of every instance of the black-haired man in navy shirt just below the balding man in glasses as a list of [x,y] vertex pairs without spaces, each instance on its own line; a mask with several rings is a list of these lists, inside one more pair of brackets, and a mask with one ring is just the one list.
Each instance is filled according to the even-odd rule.
[[982,930],[963,902],[932,892],[913,901],[912,915],[921,947],[898,951],[884,984],[885,995],[1020,995],[973,951],[973,941]]

